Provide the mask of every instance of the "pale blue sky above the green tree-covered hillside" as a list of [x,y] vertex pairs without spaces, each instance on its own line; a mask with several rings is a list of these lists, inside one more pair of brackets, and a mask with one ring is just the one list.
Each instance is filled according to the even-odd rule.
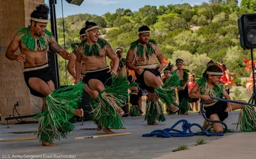
[[[56,17],[62,17],[61,13],[61,1],[63,1],[63,15],[75,15],[79,13],[89,13],[95,15],[104,15],[108,11],[115,13],[118,8],[130,9],[132,11],[138,11],[145,5],[151,6],[167,6],[168,4],[182,4],[189,3],[191,5],[202,4],[203,2],[209,2],[209,0],[84,0],[81,6],[74,4],[68,4],[65,0],[57,0],[56,4]],[[239,0],[240,2],[241,0]],[[45,0],[45,4],[49,4],[49,0]]]

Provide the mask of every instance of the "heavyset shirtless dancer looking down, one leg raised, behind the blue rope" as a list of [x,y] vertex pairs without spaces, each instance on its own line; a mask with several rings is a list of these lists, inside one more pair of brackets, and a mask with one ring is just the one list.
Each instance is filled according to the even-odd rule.
[[[147,26],[141,26],[138,31],[139,39],[131,43],[126,57],[126,66],[136,71],[136,78],[148,91],[147,115],[145,116],[148,125],[158,125],[156,120],[165,121],[159,98],[168,106],[173,102],[166,92],[170,86],[168,82],[161,86],[160,72],[163,70],[164,58],[156,41],[150,39],[150,29]],[[159,64],[157,64],[156,57]],[[171,107],[173,112],[178,110],[175,106]]]

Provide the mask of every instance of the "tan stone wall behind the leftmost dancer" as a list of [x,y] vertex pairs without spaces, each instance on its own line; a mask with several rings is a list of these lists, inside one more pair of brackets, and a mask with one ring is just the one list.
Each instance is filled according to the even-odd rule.
[[[44,3],[44,0],[0,0],[0,111],[2,124],[7,116],[13,116],[12,111],[15,102],[19,114],[31,114],[38,112],[35,103],[42,102],[35,96],[31,96],[23,76],[23,63],[8,60],[4,54],[12,41],[13,35],[20,27],[30,24],[30,14],[36,5]],[[17,50],[17,54],[19,54]],[[15,54],[16,54],[15,53]],[[15,113],[17,116],[17,113]],[[31,119],[24,119],[29,121]],[[17,123],[16,120],[10,123]]]

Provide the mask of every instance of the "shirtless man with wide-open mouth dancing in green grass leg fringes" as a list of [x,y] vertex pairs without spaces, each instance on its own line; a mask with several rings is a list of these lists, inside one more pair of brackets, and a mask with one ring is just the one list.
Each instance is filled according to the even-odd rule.
[[[99,28],[94,22],[86,21],[86,40],[77,49],[76,75],[81,72],[82,59],[86,64],[86,76],[83,78],[84,91],[91,96],[92,117],[102,131],[114,133],[109,128],[121,128],[121,116],[124,111],[121,107],[128,98],[127,83],[124,77],[116,76],[118,57],[111,45],[99,38]],[[109,70],[106,57],[113,61],[113,68]],[[79,83],[80,79],[76,79]]]

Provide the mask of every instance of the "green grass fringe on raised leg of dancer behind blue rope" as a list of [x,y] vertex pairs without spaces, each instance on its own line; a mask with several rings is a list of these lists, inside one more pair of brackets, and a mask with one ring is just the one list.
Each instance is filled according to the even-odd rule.
[[177,73],[172,73],[172,77],[170,77],[163,86],[155,89],[156,95],[167,105],[167,107],[169,107],[171,103],[175,102],[173,94],[175,93],[175,87],[179,86],[179,84],[180,80]]

